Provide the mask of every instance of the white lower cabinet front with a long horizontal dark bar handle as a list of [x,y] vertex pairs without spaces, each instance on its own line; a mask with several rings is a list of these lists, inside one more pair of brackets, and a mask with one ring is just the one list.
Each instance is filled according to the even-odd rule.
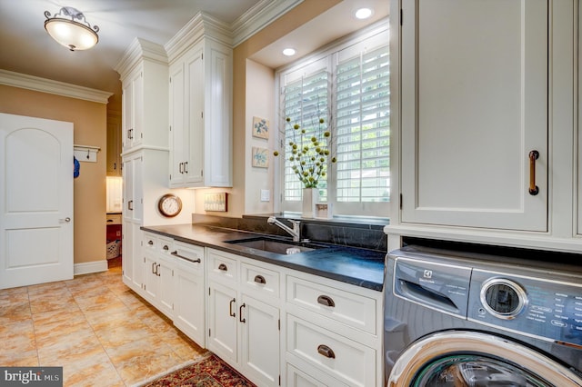
[[174,325],[201,347],[206,347],[204,247],[175,242]]

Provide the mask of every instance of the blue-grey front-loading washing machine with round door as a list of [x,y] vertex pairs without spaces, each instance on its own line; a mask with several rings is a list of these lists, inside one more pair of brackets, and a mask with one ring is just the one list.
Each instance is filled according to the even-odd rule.
[[389,253],[386,385],[582,386],[582,255],[574,257]]

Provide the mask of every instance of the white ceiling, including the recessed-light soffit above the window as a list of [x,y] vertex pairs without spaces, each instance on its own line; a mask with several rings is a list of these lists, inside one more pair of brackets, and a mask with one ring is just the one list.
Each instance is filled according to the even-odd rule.
[[[117,93],[114,67],[135,36],[165,45],[200,11],[232,24],[266,1],[281,0],[0,0],[0,69]],[[344,0],[253,59],[275,68],[288,61],[280,55],[282,45],[295,46],[302,56],[371,23],[351,15],[349,10],[358,5],[376,8],[371,21],[388,13],[388,0]],[[45,11],[54,15],[63,6],[75,7],[87,22],[99,26],[94,48],[71,52],[46,34]]]

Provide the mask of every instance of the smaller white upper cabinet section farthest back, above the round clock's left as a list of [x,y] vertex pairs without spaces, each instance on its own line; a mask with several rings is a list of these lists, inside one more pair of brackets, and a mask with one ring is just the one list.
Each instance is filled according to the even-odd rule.
[[167,150],[168,65],[164,47],[135,38],[115,67],[122,82],[123,153]]

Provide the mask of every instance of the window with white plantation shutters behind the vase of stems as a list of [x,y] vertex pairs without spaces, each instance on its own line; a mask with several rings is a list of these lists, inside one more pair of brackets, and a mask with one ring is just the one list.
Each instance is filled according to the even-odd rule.
[[[386,217],[390,201],[390,102],[387,23],[344,40],[279,73],[283,211],[300,211],[303,184],[293,169],[299,124],[304,137],[329,123],[330,152],[317,188],[334,213]],[[301,148],[301,145],[299,145]],[[330,160],[328,158],[327,160]],[[326,160],[326,161],[327,161]]]

